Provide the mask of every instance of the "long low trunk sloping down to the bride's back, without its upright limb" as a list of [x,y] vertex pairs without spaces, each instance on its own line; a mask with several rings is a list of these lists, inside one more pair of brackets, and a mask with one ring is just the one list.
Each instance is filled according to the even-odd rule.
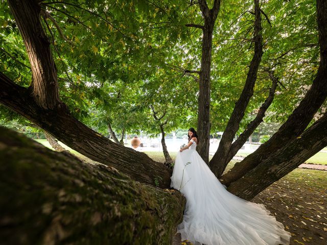
[[[0,72],[0,103],[26,117],[40,128],[84,156],[113,166],[132,179],[154,185],[170,187],[171,169],[155,162],[145,153],[136,152],[91,130],[74,118],[61,103],[53,110],[36,105],[26,88],[20,87]],[[56,121],[56,124],[53,124]]]

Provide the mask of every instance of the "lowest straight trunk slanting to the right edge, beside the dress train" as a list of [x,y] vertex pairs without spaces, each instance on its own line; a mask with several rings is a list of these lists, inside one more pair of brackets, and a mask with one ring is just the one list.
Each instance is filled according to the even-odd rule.
[[281,179],[327,145],[327,113],[300,137],[284,145],[269,158],[231,183],[227,190],[251,200],[256,194]]

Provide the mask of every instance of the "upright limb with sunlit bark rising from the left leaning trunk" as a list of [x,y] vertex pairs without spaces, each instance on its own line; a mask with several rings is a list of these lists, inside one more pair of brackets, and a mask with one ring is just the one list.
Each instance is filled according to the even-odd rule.
[[50,41],[40,22],[40,6],[37,1],[8,0],[8,3],[31,63],[34,100],[44,109],[53,109],[60,103],[57,70]]

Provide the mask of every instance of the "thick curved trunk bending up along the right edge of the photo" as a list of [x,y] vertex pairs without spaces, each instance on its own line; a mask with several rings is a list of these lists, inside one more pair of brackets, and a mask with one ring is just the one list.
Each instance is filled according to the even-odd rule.
[[284,145],[291,144],[307,128],[325,101],[327,97],[327,2],[324,0],[317,0],[317,23],[320,63],[312,86],[281,128],[258,150],[235,164],[227,174],[222,176],[222,181],[226,185],[241,179]]

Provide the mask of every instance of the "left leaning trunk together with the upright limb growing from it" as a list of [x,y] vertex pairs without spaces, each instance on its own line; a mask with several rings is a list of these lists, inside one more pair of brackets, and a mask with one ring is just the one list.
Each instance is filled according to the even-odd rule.
[[25,89],[0,74],[0,103],[92,160],[113,166],[144,183],[154,185],[160,177],[159,186],[169,187],[171,169],[153,161],[144,153],[115,144],[89,129],[59,101],[56,67],[50,42],[42,29],[37,2],[8,1],[29,54],[33,81],[30,89]]

